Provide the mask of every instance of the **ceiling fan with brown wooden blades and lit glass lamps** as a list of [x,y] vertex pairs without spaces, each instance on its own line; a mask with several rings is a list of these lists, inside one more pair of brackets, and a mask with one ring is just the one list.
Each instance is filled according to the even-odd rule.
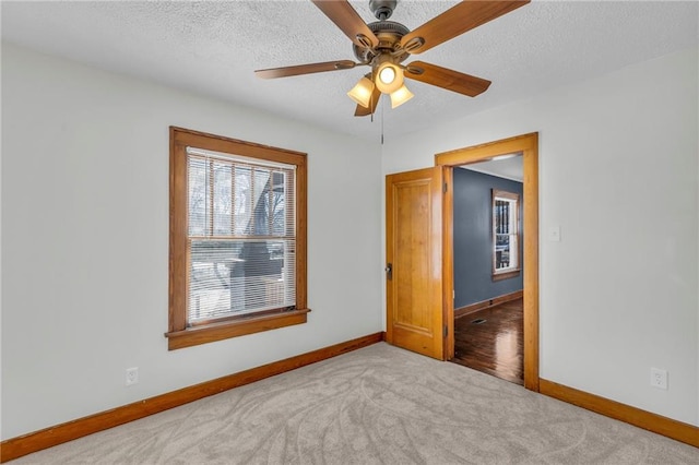
[[372,115],[381,94],[391,97],[395,108],[413,97],[404,78],[475,97],[485,92],[490,81],[441,68],[424,61],[401,64],[411,55],[422,53],[460,34],[516,10],[530,0],[463,0],[427,23],[410,31],[401,23],[388,21],[398,0],[369,0],[369,9],[378,21],[366,24],[347,0],[311,0],[353,41],[352,60],[325,61],[284,68],[257,70],[259,78],[273,79],[324,71],[350,70],[367,65],[365,74],[347,95],[357,103],[355,116]]

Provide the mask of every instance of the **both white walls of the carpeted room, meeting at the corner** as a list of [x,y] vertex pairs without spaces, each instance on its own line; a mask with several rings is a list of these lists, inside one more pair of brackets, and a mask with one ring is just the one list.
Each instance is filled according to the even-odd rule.
[[[541,243],[542,377],[699,425],[697,65],[687,50],[381,150],[3,44],[1,437],[380,331],[381,172],[532,131],[542,233],[562,237]],[[307,324],[167,351],[170,124],[309,154]]]

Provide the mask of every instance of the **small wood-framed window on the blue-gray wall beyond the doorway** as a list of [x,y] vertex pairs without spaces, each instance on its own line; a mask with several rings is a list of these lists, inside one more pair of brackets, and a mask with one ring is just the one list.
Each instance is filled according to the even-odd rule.
[[520,273],[519,194],[493,189],[493,279]]

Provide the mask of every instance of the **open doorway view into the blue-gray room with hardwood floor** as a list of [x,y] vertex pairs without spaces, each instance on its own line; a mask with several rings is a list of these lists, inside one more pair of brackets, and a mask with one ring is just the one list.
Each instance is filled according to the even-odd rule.
[[453,168],[454,357],[524,384],[521,154]]

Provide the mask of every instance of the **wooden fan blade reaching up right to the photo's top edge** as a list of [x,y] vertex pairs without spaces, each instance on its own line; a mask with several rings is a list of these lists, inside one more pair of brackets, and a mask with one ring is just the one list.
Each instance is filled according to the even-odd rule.
[[405,34],[401,38],[401,47],[411,53],[422,53],[529,2],[530,0],[463,0],[415,31]]

